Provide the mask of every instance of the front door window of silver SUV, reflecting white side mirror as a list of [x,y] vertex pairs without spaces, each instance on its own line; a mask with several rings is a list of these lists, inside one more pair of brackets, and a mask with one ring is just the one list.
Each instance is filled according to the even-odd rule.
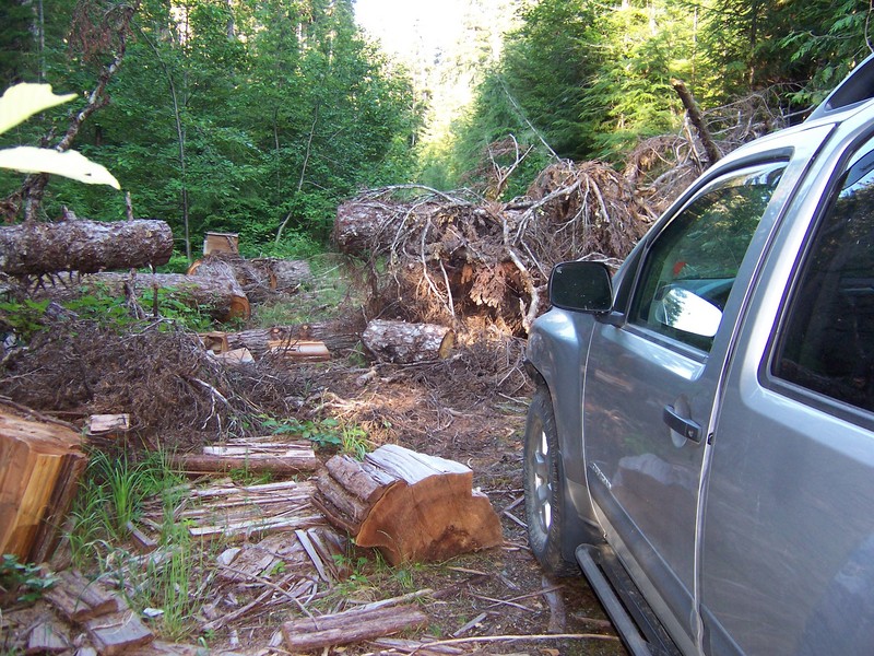
[[733,172],[681,210],[647,254],[633,324],[710,350],[737,268],[784,168],[776,162]]

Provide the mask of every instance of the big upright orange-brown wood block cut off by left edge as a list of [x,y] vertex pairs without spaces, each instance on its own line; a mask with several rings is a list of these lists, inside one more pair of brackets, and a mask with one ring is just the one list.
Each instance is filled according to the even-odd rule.
[[85,468],[70,429],[0,409],[0,553],[42,562],[55,550]]

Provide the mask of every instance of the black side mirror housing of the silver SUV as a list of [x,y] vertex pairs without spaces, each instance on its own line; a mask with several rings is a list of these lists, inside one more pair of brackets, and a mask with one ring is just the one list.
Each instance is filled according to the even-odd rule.
[[562,309],[607,313],[613,307],[610,269],[602,262],[562,262],[550,276],[550,303]]

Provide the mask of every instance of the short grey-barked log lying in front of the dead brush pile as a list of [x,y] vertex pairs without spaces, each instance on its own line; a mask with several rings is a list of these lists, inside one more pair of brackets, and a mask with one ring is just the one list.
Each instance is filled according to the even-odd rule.
[[446,326],[374,319],[362,333],[362,342],[375,358],[395,364],[446,359],[456,335]]

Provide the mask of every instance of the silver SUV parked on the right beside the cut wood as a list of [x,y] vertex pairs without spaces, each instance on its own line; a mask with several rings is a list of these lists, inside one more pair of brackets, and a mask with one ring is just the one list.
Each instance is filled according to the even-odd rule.
[[531,548],[633,654],[874,654],[874,59],[534,324]]

